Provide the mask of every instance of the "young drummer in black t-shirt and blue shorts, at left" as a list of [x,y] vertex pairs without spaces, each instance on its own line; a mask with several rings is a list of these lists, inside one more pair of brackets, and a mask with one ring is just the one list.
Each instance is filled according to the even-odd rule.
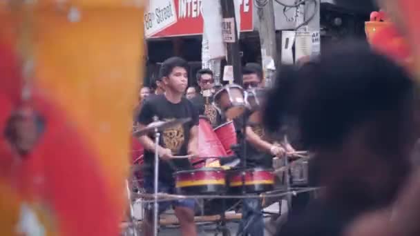
[[[172,119],[191,118],[187,124],[168,128],[161,132],[158,146],[159,185],[160,193],[174,193],[175,183],[173,173],[176,170],[191,168],[188,159],[171,159],[173,155],[197,155],[198,153],[198,111],[193,104],[184,97],[187,88],[187,62],[179,57],[171,57],[162,63],[160,68],[162,83],[165,92],[146,100],[139,116],[139,128],[150,124],[154,117],[160,121]],[[153,170],[155,144],[151,136],[144,135],[139,138],[144,146],[144,188],[147,193],[153,193]],[[170,205],[174,207],[175,215],[180,221],[182,235],[196,235],[194,223],[193,199],[179,201],[162,201],[159,212],[162,213]],[[144,235],[151,235],[152,207],[146,211]]]

